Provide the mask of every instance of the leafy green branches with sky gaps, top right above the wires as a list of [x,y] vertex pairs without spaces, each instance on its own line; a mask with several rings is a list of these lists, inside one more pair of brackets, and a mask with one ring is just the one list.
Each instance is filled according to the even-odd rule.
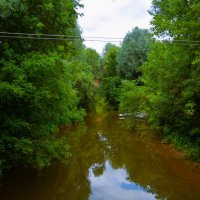
[[152,30],[158,36],[199,40],[199,2],[196,0],[153,0]]

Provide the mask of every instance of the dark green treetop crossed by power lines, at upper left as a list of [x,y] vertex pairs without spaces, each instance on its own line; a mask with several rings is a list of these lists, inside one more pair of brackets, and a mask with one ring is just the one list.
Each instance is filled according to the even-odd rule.
[[[77,8],[79,0],[9,0],[0,3],[0,31],[9,33],[30,34],[60,34],[80,36],[77,25]],[[7,34],[6,34],[7,35]],[[11,36],[11,34],[9,34]],[[17,35],[14,35],[17,36]],[[19,35],[18,35],[19,36]],[[20,35],[21,37],[24,36]],[[33,37],[34,35],[32,35]],[[12,34],[13,37],[13,34]],[[2,38],[16,53],[31,51],[49,52],[60,51],[66,55],[73,55],[77,42],[73,40],[40,40],[40,39],[14,39]],[[30,36],[29,36],[30,37]],[[39,36],[35,36],[38,37]],[[44,36],[41,36],[44,37]],[[51,36],[48,36],[49,38]],[[31,38],[31,37],[30,37]],[[60,37],[62,39],[63,37]]]

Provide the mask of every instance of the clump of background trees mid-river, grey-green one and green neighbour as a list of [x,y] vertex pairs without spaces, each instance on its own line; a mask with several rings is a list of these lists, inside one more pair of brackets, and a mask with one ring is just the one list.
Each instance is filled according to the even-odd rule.
[[[149,43],[149,32],[146,29],[135,27],[132,32],[126,34],[121,47],[110,43],[105,46],[101,62],[103,65],[101,89],[112,109],[119,109],[119,102],[121,102],[120,109],[131,112],[139,103],[135,103],[134,107],[133,102],[131,103],[135,95],[134,91],[125,94],[125,91],[129,93],[128,90],[133,89],[130,87],[132,82],[124,81],[122,85],[121,83],[123,80],[135,79],[137,81],[134,84],[142,84],[141,66],[147,60]],[[137,87],[134,88],[137,90]]]

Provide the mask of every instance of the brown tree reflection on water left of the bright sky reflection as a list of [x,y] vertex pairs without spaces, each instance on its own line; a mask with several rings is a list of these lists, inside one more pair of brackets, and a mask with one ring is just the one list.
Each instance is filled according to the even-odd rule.
[[40,176],[30,169],[15,169],[3,180],[0,199],[87,200],[91,192],[90,167],[96,176],[105,168],[104,144],[84,124],[66,131],[66,136],[73,155],[66,166],[55,164]]

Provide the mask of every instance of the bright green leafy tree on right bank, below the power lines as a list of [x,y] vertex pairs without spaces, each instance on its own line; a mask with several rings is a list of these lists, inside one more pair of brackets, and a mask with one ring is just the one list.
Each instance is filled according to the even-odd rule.
[[[198,157],[199,73],[193,52],[185,46],[156,42],[144,65],[150,123],[179,147],[190,146]],[[193,152],[195,148],[195,152]]]

